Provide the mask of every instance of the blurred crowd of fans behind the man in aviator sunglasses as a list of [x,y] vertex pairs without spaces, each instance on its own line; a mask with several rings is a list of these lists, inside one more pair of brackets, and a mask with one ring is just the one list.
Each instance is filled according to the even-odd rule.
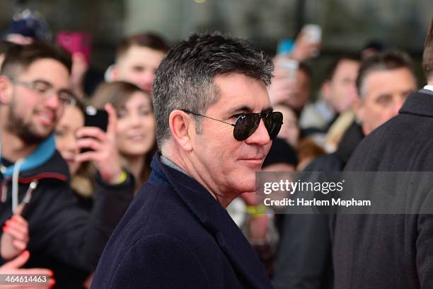
[[[291,52],[274,58],[268,93],[284,123],[263,171],[342,171],[359,142],[398,114],[418,88],[414,64],[401,50],[368,48],[368,56],[330,63],[316,101],[308,60],[320,43],[301,33]],[[90,286],[105,243],[151,171],[152,86],[167,51],[156,34],[127,36],[105,81],[88,91],[83,55],[13,23],[0,45],[0,273],[52,276],[46,288]],[[284,59],[299,62],[295,77],[279,65]],[[106,111],[106,130],[85,125],[89,105]],[[227,210],[275,288],[333,288],[328,215],[278,214],[248,193]]]

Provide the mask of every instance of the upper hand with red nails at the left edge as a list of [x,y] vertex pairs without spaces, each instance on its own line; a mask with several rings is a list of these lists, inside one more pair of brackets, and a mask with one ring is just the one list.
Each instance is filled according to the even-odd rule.
[[[19,210],[18,210],[19,211]],[[28,243],[28,223],[21,215],[6,220],[1,234],[0,254],[4,260],[11,260],[25,250]]]

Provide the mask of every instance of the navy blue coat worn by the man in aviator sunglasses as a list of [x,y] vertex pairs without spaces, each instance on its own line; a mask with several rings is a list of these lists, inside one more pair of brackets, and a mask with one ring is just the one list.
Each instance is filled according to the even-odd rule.
[[117,225],[92,288],[272,288],[226,210],[200,183],[161,163]]

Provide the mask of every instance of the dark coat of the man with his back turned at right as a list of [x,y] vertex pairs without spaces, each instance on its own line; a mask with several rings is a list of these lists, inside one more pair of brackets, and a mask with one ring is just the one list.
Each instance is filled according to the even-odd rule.
[[[433,93],[422,90],[364,138],[345,170],[433,171],[432,148]],[[433,288],[433,215],[337,215],[332,227],[336,289]]]

